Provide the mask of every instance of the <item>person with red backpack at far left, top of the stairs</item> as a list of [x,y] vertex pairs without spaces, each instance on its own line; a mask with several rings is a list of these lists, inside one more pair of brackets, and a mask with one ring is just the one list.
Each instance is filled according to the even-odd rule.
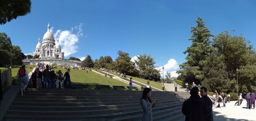
[[21,96],[23,96],[23,92],[25,92],[25,88],[27,88],[29,82],[28,71],[25,69],[25,64],[22,64],[21,68],[19,69],[17,73],[17,80],[19,80],[20,92]]

